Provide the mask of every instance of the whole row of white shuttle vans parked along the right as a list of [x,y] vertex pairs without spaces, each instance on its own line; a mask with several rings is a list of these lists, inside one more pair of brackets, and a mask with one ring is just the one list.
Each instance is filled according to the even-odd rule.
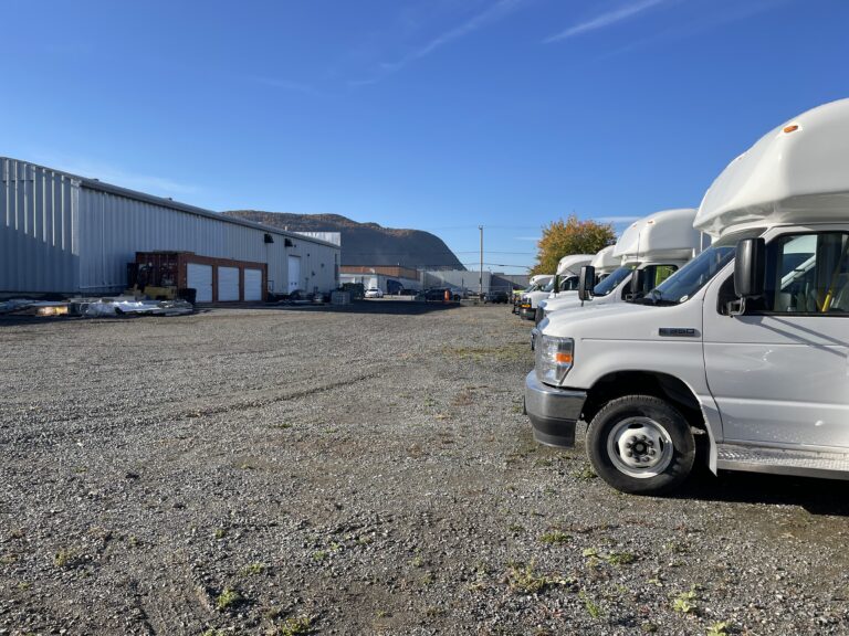
[[627,492],[698,462],[849,478],[849,99],[769,131],[699,210],[652,214],[558,274],[523,298],[537,441],[572,446],[588,423],[593,467]]

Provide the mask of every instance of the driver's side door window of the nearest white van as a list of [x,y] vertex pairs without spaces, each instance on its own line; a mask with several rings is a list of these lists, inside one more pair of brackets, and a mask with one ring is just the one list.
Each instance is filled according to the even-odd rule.
[[849,316],[849,234],[789,234],[769,243],[763,311]]

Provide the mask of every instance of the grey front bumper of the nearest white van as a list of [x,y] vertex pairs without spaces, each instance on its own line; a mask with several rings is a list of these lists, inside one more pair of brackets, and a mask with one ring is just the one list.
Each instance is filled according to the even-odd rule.
[[575,445],[575,426],[586,401],[586,391],[548,386],[537,380],[535,371],[525,378],[525,413],[534,428],[534,438],[547,446]]

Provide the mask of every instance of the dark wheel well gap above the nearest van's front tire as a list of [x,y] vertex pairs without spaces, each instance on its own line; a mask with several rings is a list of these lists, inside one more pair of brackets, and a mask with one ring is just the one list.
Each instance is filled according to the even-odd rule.
[[690,388],[674,375],[647,371],[618,371],[601,378],[587,392],[581,418],[589,424],[605,404],[626,395],[653,395],[667,400],[686,417],[690,426],[706,431],[699,401]]

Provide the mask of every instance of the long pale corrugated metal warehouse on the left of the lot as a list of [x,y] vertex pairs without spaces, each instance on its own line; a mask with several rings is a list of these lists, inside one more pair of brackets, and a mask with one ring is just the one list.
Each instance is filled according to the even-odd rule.
[[264,264],[274,294],[337,287],[339,245],[25,161],[0,162],[0,293],[119,293],[137,252],[163,251],[202,257],[195,286],[223,279],[227,268],[219,276],[216,259],[227,259]]

